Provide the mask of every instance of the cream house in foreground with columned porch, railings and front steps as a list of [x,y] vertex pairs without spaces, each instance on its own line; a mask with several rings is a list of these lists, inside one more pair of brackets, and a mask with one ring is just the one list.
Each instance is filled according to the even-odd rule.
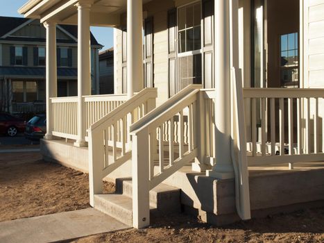
[[[48,44],[55,23],[79,33],[78,97],[46,96],[44,158],[89,171],[90,205],[135,228],[150,207],[229,224],[323,206],[323,10],[324,0],[28,1],[19,12],[48,24]],[[114,27],[111,95],[89,96],[90,26]],[[48,85],[55,72],[49,58]],[[123,194],[103,194],[103,178]]]

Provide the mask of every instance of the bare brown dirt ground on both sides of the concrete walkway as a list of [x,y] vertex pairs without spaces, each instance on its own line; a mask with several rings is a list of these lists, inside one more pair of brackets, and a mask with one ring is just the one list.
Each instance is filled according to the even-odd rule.
[[[105,183],[105,192],[114,185]],[[88,176],[38,153],[0,154],[0,221],[89,207]],[[324,207],[214,227],[186,215],[152,219],[144,230],[73,242],[324,242]]]

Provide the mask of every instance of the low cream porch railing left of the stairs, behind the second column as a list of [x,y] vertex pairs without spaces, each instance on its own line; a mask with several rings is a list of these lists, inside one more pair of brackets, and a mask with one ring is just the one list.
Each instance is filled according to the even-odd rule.
[[[126,94],[108,94],[83,97],[85,102],[85,129],[112,112],[127,100]],[[78,97],[51,98],[53,135],[76,140],[78,137]],[[85,137],[87,140],[87,137]]]

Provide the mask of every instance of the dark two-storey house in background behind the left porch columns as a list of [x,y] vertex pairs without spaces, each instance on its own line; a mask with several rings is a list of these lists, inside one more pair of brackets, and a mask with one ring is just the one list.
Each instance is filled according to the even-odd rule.
[[[57,26],[58,97],[76,96],[77,28]],[[92,35],[92,66],[102,47]],[[12,113],[45,111],[46,29],[39,20],[0,17],[0,109]],[[92,72],[92,93],[99,74]]]

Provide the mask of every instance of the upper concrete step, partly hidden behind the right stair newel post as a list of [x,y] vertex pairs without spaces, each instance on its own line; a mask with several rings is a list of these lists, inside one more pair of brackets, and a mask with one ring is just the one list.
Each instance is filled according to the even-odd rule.
[[[125,196],[133,196],[133,183],[131,178],[117,178],[116,192]],[[155,213],[174,213],[181,211],[180,189],[161,183],[150,191],[150,206]]]

